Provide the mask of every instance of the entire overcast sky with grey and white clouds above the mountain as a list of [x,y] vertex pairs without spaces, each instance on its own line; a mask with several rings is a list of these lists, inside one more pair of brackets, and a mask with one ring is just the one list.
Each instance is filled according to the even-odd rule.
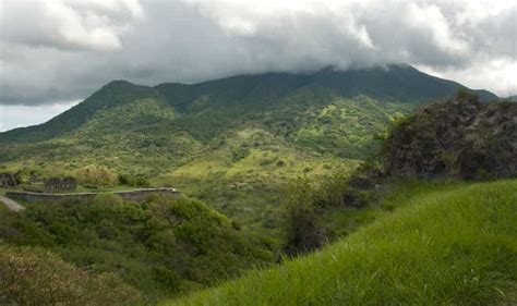
[[111,79],[409,63],[517,94],[513,0],[0,1],[0,131],[44,122]]

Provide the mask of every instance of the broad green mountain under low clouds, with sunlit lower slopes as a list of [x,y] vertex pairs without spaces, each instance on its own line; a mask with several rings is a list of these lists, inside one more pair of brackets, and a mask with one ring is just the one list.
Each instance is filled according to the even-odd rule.
[[115,81],[44,124],[0,133],[0,170],[172,185],[269,229],[282,182],[349,172],[392,121],[458,87],[408,65],[155,87]]

